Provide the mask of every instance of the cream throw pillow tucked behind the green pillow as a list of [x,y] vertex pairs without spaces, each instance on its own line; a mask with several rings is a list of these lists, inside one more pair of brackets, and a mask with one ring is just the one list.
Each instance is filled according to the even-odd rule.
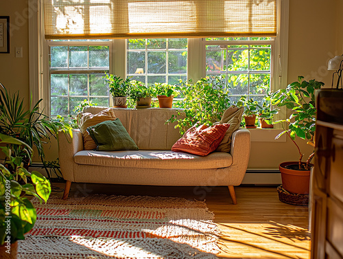
[[105,109],[96,114],[82,113],[82,115],[79,117],[78,125],[84,139],[84,150],[93,150],[97,148],[97,144],[95,144],[94,140],[86,131],[86,129],[100,122],[104,122],[106,120],[115,120],[116,118],[115,112],[111,108]]

